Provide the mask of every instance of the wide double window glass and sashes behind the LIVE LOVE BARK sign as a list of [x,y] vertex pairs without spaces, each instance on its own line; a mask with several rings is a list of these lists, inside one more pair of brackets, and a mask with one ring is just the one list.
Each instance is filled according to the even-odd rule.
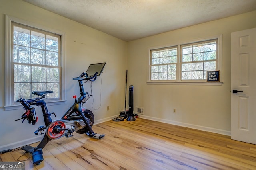
[[207,71],[221,70],[221,35],[210,40],[150,50],[150,82],[206,82]]

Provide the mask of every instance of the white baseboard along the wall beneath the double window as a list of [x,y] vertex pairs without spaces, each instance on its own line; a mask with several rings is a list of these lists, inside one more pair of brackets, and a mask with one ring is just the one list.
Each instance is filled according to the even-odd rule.
[[212,127],[193,125],[193,124],[190,124],[190,123],[183,123],[183,122],[178,122],[178,121],[170,121],[170,120],[166,120],[166,119],[159,119],[159,118],[156,118],[156,117],[150,117],[150,116],[145,116],[145,115],[139,115],[139,117],[141,117],[143,119],[159,121],[159,122],[168,123],[168,124],[172,124],[172,125],[178,125],[178,126],[188,127],[188,128],[192,128],[192,129],[198,129],[198,130],[201,130],[201,131],[207,131],[207,132],[212,132],[212,133],[218,133],[218,134],[222,134],[222,135],[231,136],[230,131],[226,131],[226,130],[222,130],[222,129],[216,129],[216,128],[212,128]]

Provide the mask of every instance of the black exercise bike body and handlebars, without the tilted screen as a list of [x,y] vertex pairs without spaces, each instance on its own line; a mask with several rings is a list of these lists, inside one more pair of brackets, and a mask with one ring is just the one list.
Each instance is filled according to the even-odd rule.
[[[23,108],[26,110],[26,113],[28,111],[28,113],[30,113],[31,110],[33,110],[34,113],[34,108],[32,108],[32,105],[36,105],[36,106],[41,106],[42,112],[43,112],[43,116],[44,116],[44,123],[46,127],[40,126],[38,127],[38,130],[35,131],[35,134],[43,134],[42,131],[44,131],[44,129],[46,129],[46,133],[42,139],[42,141],[38,144],[37,147],[32,147],[32,146],[24,146],[21,149],[25,150],[26,152],[32,153],[32,159],[33,159],[33,164],[38,165],[40,164],[40,162],[42,162],[44,160],[43,158],[43,152],[42,149],[46,146],[46,144],[52,140],[52,139],[58,139],[60,137],[66,136],[66,137],[71,137],[73,136],[72,133],[74,131],[78,130],[82,130],[82,133],[85,133],[86,135],[88,135],[89,137],[94,137],[96,139],[102,139],[105,135],[102,134],[97,134],[94,133],[94,131],[92,130],[92,127],[90,125],[90,123],[93,125],[93,123],[91,122],[90,119],[86,118],[83,111],[82,111],[82,107],[81,107],[81,103],[85,103],[88,98],[89,98],[89,94],[88,92],[84,92],[84,86],[83,86],[83,81],[95,81],[96,80],[96,76],[97,76],[98,72],[96,72],[94,74],[94,76],[90,76],[88,77],[88,75],[86,73],[82,73],[79,77],[73,78],[73,80],[78,80],[79,82],[79,88],[80,88],[80,97],[78,99],[76,99],[76,96],[73,96],[73,98],[75,99],[74,104],[68,109],[68,111],[61,117],[61,119],[58,119],[56,121],[52,121],[51,115],[55,113],[49,113],[47,106],[46,106],[46,102],[44,100],[42,100],[42,98],[44,98],[46,96],[46,94],[48,93],[52,93],[52,91],[34,91],[32,92],[32,94],[38,95],[40,97],[38,98],[34,98],[34,99],[24,99],[24,98],[20,98],[17,100],[17,102],[20,102],[23,105]],[[86,96],[86,94],[88,96]],[[90,111],[91,112],[91,111]],[[26,116],[26,113],[24,113],[22,115],[23,121],[24,119],[28,119]],[[76,113],[75,116],[72,116],[72,113]],[[35,113],[34,113],[35,114]],[[90,113],[93,116],[93,113]],[[79,116],[77,116],[79,115]],[[56,117],[56,115],[55,115]],[[22,119],[21,118],[21,119]],[[33,115],[33,119],[34,119],[34,115]],[[82,119],[82,120],[81,120]],[[19,119],[18,119],[19,120]],[[29,123],[31,123],[31,120],[29,120]],[[22,121],[22,122],[23,122]],[[84,124],[80,127],[76,127],[76,124],[74,123],[78,123],[78,122],[84,122]],[[93,118],[94,121],[94,118]],[[35,123],[35,122],[33,122]],[[32,125],[34,125],[32,123]],[[56,124],[55,124],[56,123]],[[65,123],[70,123],[72,127],[74,128],[62,128],[58,123],[60,124],[64,124]],[[72,124],[73,123],[73,124]],[[70,125],[68,124],[68,125]],[[78,123],[79,124],[79,123]],[[60,133],[60,132],[66,132],[66,133]],[[79,132],[81,133],[81,131]],[[52,136],[50,134],[54,134],[56,136],[56,138],[51,138]],[[60,136],[57,136],[57,135]],[[50,135],[50,136],[48,136]]]

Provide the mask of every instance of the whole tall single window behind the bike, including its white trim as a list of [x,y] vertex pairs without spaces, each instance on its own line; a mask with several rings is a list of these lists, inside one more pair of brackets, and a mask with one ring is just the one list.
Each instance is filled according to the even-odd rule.
[[52,90],[45,100],[64,99],[64,33],[6,16],[6,110],[19,98],[34,98],[32,91]]

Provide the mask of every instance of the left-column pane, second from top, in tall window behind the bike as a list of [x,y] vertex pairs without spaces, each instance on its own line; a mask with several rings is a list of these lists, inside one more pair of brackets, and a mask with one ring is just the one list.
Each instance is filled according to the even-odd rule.
[[28,47],[13,45],[13,62],[16,63],[30,63]]

